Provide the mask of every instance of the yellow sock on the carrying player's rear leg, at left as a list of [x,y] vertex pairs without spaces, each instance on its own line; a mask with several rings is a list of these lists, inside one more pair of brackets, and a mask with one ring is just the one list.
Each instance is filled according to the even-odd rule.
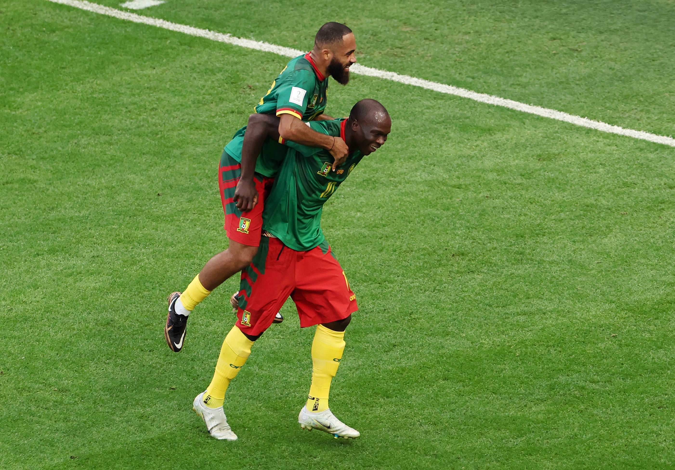
[[252,345],[253,341],[246,338],[242,330],[236,325],[232,327],[232,330],[229,330],[229,333],[225,336],[225,341],[223,341],[223,347],[220,349],[213,380],[204,393],[204,404],[207,407],[219,408],[223,406],[225,390],[227,390],[230,380],[235,378],[244,362],[246,362],[246,358],[251,353]]

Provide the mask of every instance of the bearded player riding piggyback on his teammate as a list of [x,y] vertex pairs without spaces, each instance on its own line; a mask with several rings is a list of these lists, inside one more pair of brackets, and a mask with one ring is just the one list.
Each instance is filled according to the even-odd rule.
[[[356,62],[355,50],[356,40],[350,28],[335,22],[321,26],[314,49],[292,59],[254,108],[256,113],[279,117],[279,135],[275,142],[268,142],[269,158],[257,161],[263,140],[247,139],[246,127],[238,130],[225,147],[218,180],[229,245],[207,262],[183,293],[169,295],[164,336],[171,351],[178,353],[182,349],[188,315],[194,307],[232,274],[248,266],[257,253],[265,196],[288,150],[283,142],[325,149],[336,164],[347,157],[348,148],[342,138],[317,132],[303,121],[332,119],[323,113],[328,77],[346,84],[349,67]],[[280,315],[279,320],[283,320]]]

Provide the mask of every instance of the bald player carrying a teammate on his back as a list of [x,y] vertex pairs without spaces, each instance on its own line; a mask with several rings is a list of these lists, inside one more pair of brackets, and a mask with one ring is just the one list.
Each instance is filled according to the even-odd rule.
[[[278,136],[275,119],[260,116],[252,126],[265,126],[274,138]],[[300,326],[317,325],[312,384],[298,415],[300,427],[335,438],[360,435],[328,406],[331,380],[345,347],[344,332],[358,307],[346,274],[321,231],[321,210],[363,156],[386,142],[391,119],[379,102],[361,100],[348,119],[312,122],[311,127],[324,134],[339,129],[349,154],[332,171],[333,158],[326,150],[288,144],[292,148],[265,202],[260,249],[242,272],[238,320],[223,341],[211,384],[193,402],[194,411],[217,439],[236,440],[223,411],[225,391],[289,296],[296,303]]]

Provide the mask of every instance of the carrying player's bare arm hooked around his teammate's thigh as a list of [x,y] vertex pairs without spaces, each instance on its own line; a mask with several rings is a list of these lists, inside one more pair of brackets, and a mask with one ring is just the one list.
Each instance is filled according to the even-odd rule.
[[267,138],[279,140],[279,118],[269,114],[250,115],[242,143],[242,175],[232,198],[242,212],[252,210],[258,202],[253,177],[258,155]]

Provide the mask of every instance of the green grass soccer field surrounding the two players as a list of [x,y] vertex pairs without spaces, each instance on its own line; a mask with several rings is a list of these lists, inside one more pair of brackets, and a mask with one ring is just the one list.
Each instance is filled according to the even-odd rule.
[[[120,8],[124,0],[99,0]],[[129,10],[131,11],[131,10]],[[675,135],[675,3],[167,0],[135,11]],[[46,0],[0,0],[1,469],[667,469],[675,465],[675,148],[352,74],[327,113],[393,121],[323,212],[360,310],[300,430],[314,328],[192,399],[231,278],[172,353],[166,297],[227,246],[223,146],[288,61]]]

